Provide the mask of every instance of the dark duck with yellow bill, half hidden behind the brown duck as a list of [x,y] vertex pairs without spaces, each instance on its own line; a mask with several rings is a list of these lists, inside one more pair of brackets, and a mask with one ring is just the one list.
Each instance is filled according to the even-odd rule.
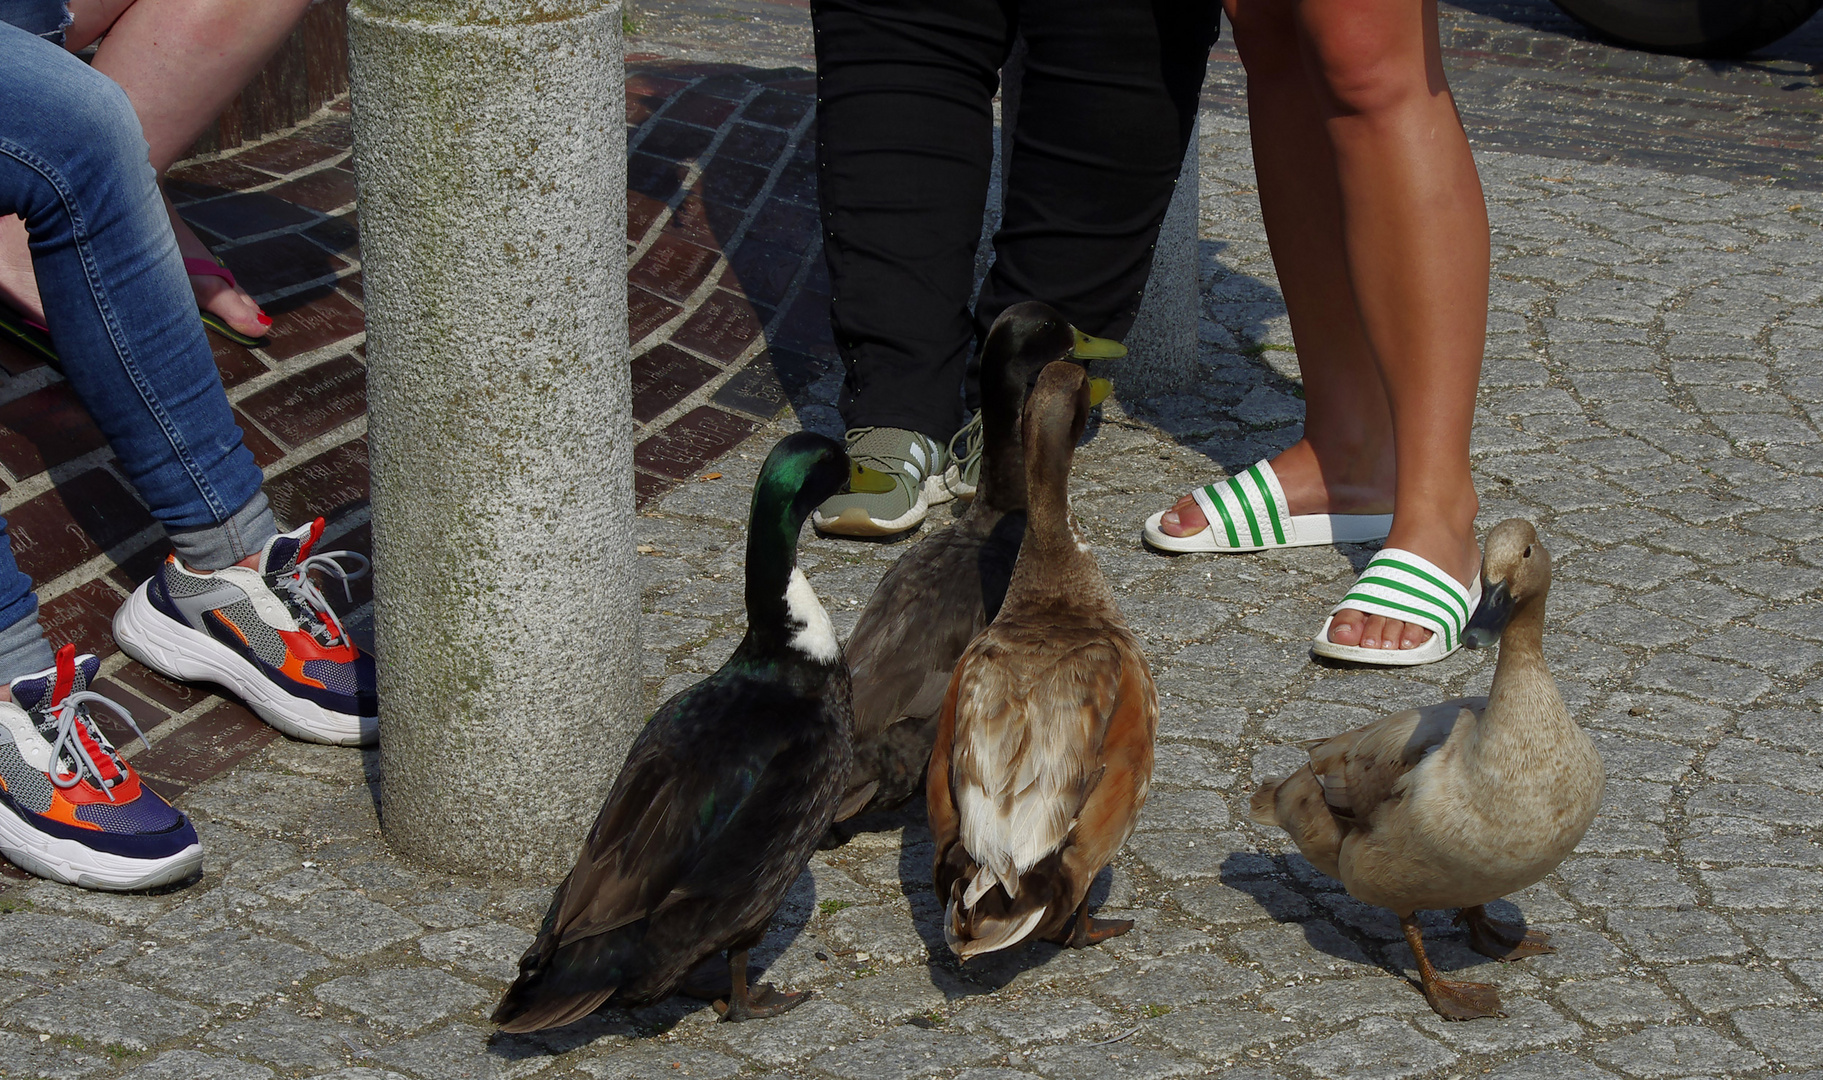
[[[855,679],[855,772],[835,819],[886,810],[922,790],[950,671],[1006,597],[1026,525],[1019,412],[1046,363],[1125,356],[1056,308],[1001,312],[981,348],[981,483],[953,525],[917,542],[881,578],[848,639]],[[1094,401],[1107,383],[1092,379]]]

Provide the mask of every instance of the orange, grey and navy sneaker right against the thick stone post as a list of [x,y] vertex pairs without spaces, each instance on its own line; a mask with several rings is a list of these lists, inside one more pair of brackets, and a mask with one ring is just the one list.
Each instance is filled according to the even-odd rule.
[[153,671],[228,688],[294,739],[366,746],[379,737],[374,657],[348,640],[312,573],[346,593],[368,562],[312,553],[321,538],[323,518],[281,533],[257,569],[199,573],[171,555],[115,613],[115,640]]

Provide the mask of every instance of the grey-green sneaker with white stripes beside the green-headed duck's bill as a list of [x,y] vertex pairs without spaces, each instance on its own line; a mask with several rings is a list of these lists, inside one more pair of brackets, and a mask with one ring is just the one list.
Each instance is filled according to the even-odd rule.
[[933,504],[955,498],[942,482],[950,452],[926,434],[855,427],[848,432],[848,491],[811,513],[824,533],[891,536],[917,527]]

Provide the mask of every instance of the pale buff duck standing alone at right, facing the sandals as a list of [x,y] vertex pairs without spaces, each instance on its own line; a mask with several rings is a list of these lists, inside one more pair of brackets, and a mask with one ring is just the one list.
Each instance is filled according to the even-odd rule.
[[1486,983],[1449,981],[1424,954],[1415,912],[1462,909],[1484,956],[1550,952],[1544,934],[1482,909],[1557,868],[1601,805],[1595,744],[1570,719],[1544,666],[1551,556],[1529,522],[1488,535],[1484,600],[1466,644],[1500,642],[1488,697],[1402,711],[1305,742],[1311,764],[1260,786],[1252,819],[1291,834],[1349,896],[1393,909],[1418,961],[1424,998],[1446,1020],[1500,1016]]

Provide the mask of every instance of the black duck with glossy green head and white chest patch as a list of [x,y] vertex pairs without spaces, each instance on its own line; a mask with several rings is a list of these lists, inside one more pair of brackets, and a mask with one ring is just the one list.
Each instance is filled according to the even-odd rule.
[[634,741],[494,1011],[503,1031],[656,1002],[724,950],[726,1020],[802,1000],[749,989],[747,949],[829,828],[853,763],[848,666],[797,569],[804,518],[846,478],[840,443],[819,434],[786,436],[766,458],[747,531],[747,635]]

